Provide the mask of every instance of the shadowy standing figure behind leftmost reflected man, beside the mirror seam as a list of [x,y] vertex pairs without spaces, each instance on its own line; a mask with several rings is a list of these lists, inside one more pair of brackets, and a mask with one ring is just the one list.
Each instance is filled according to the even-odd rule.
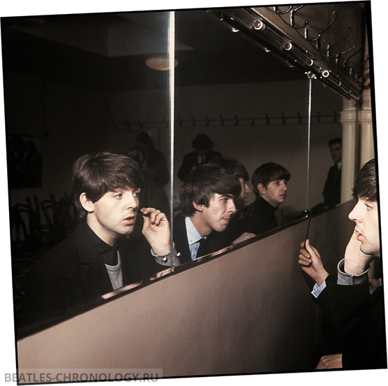
[[136,136],[136,145],[128,151],[144,173],[144,189],[141,203],[144,207],[157,208],[170,217],[170,201],[165,193],[165,185],[170,180],[170,173],[163,153],[154,148],[152,138],[146,131]]

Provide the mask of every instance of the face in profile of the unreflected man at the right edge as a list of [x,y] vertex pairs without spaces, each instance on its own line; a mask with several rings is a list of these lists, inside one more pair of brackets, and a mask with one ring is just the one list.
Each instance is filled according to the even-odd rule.
[[380,234],[378,224],[378,203],[359,198],[355,208],[349,213],[356,223],[357,240],[360,250],[366,255],[380,257]]

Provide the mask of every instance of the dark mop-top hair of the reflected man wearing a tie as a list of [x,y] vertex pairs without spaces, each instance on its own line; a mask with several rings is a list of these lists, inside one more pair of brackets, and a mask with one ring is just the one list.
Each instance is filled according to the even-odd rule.
[[241,193],[241,184],[237,177],[221,167],[209,164],[197,166],[179,190],[182,215],[195,213],[193,202],[209,208],[214,193],[231,194],[236,199]]

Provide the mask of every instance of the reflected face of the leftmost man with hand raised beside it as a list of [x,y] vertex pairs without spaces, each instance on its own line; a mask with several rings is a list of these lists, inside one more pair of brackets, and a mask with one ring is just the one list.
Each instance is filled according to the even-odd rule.
[[130,234],[135,226],[140,189],[117,189],[90,203],[87,223],[109,245],[119,236]]

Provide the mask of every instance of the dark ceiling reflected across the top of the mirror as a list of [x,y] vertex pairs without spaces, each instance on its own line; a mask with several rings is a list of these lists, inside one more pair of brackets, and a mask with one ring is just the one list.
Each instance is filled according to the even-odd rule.
[[[166,13],[105,13],[1,19],[3,70],[96,90],[165,87],[145,65],[166,50]],[[205,10],[179,10],[175,85],[257,83],[306,78]]]

